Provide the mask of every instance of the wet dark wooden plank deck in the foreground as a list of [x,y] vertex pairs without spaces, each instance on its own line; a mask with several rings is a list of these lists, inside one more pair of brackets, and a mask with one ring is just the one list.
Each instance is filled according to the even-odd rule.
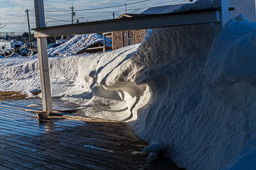
[[[178,169],[169,159],[144,162],[127,123],[58,113],[38,121],[38,99],[0,102],[0,169]],[[54,100],[53,100],[54,101]],[[58,110],[75,105],[53,102]]]

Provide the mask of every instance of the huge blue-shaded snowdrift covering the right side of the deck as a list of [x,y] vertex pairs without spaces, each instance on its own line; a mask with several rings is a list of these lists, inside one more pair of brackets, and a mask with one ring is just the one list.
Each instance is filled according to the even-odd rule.
[[164,142],[166,157],[186,169],[255,164],[254,38],[255,23],[243,16],[214,42],[211,25],[152,30],[124,71],[137,69],[126,81],[149,84],[152,93],[132,129]]

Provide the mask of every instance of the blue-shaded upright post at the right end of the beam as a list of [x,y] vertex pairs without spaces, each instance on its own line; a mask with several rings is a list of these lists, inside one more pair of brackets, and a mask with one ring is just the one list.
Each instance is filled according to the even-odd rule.
[[215,37],[220,34],[221,30],[224,28],[225,23],[230,20],[230,11],[228,9],[228,0],[213,0],[214,8],[221,8],[220,10],[220,23],[214,24]]

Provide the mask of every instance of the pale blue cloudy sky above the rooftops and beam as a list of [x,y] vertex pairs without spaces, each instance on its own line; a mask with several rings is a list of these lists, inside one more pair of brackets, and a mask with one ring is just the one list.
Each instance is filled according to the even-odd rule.
[[[115,8],[105,8],[100,10],[86,11],[90,8],[100,8],[106,6],[117,6],[134,3],[143,0],[44,0],[46,10],[46,22],[48,26],[56,26],[71,23],[70,6],[75,7],[76,16],[80,22],[98,21],[103,19],[112,19],[112,13],[120,16],[125,13],[125,6]],[[177,4],[188,0],[149,0],[138,4],[127,6],[127,13],[141,13],[151,6],[161,6],[168,4]],[[26,9],[31,10],[29,18],[31,28],[35,28],[35,16],[33,14],[33,0],[1,0],[0,5],[0,32],[20,32],[28,31],[28,23],[26,18]],[[63,10],[63,11],[61,11]],[[85,10],[85,11],[77,11]],[[58,11],[58,12],[57,12]],[[61,12],[60,12],[61,11]],[[57,20],[61,21],[57,21]]]

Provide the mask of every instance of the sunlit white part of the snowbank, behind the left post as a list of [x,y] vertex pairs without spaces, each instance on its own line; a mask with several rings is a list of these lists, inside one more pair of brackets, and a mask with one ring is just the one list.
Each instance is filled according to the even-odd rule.
[[[136,96],[148,90],[130,84],[134,89],[142,89],[129,98],[122,91],[107,91],[104,81],[114,68],[129,60],[139,45],[124,47],[113,52],[70,57],[50,57],[50,78],[53,96],[63,96],[63,100],[82,105],[78,114],[112,120],[136,119],[129,111],[136,103]],[[134,87],[133,87],[134,86]],[[112,87],[114,88],[114,87]],[[0,60],[0,91],[23,91],[28,96],[40,91],[38,60],[35,58],[6,58]],[[146,96],[150,96],[149,93]],[[149,101],[149,99],[147,99]]]

